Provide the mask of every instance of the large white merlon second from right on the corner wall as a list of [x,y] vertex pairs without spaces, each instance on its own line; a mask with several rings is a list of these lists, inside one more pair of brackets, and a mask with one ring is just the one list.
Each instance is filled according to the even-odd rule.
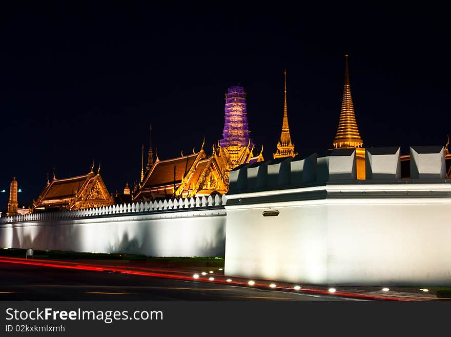
[[365,179],[401,179],[401,148],[399,146],[366,148]]

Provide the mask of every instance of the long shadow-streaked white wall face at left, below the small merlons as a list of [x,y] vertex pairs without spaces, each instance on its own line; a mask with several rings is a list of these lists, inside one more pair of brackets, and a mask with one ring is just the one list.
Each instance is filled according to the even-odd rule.
[[148,256],[224,256],[225,226],[223,209],[24,221],[0,225],[0,247]]

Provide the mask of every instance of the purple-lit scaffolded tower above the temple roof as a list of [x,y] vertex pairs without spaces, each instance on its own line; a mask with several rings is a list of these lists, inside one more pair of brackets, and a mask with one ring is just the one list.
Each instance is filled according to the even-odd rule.
[[246,114],[246,98],[244,88],[233,86],[226,94],[226,122],[222,132],[221,147],[247,147],[252,148],[253,142],[249,136],[248,116]]

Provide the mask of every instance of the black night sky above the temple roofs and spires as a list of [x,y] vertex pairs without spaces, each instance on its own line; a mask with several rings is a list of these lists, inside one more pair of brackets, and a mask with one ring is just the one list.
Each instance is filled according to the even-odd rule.
[[[129,3],[129,2],[127,2]],[[191,4],[191,3],[190,3]],[[232,7],[233,6],[233,7]],[[141,144],[160,159],[222,136],[224,93],[248,93],[253,141],[270,158],[287,70],[292,140],[330,148],[348,53],[365,147],[444,145],[451,133],[449,23],[443,8],[216,8],[30,4],[0,8],[0,190],[16,176],[19,207],[46,176],[86,174],[111,193],[139,179]],[[8,193],[0,194],[5,209]]]

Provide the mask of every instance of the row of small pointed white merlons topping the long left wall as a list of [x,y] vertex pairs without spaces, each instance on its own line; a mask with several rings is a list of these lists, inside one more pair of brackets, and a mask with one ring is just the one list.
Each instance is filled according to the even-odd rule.
[[179,200],[163,200],[154,202],[136,202],[121,205],[103,206],[98,208],[87,208],[80,209],[76,211],[60,211],[60,212],[44,212],[44,213],[32,213],[32,214],[18,214],[11,216],[0,217],[0,224],[7,223],[18,223],[24,221],[48,221],[48,220],[65,220],[65,219],[76,219],[78,217],[88,217],[88,216],[102,216],[109,214],[120,214],[120,213],[139,213],[139,212],[156,212],[156,211],[171,211],[175,209],[185,209],[185,208],[200,208],[200,207],[211,207],[211,206],[224,206],[226,205],[227,199],[224,194],[216,194],[214,196],[209,195],[208,197],[187,197],[185,199],[180,198]]

